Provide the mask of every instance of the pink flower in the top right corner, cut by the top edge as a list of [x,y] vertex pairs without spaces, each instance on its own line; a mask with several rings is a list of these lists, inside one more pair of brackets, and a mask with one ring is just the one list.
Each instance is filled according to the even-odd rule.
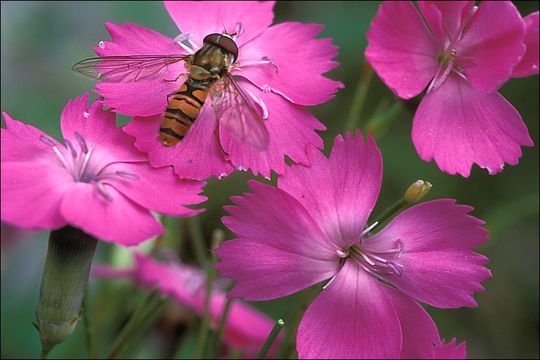
[[496,90],[512,75],[538,73],[538,31],[525,36],[525,21],[509,1],[478,7],[420,1],[418,8],[384,2],[365,53],[397,96],[410,99],[427,87],[413,120],[418,154],[464,177],[473,164],[492,175],[505,163],[516,165],[520,146],[534,144],[519,113]]

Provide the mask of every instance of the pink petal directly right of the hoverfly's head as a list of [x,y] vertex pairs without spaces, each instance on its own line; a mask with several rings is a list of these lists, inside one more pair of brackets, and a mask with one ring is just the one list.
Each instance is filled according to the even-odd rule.
[[323,76],[338,63],[331,60],[337,55],[332,39],[315,38],[322,29],[322,25],[297,22],[270,27],[240,49],[238,62],[242,66],[246,61],[266,57],[277,71],[274,66],[258,65],[242,67],[236,74],[261,89],[284,94],[295,104],[318,105],[330,100],[343,84]]

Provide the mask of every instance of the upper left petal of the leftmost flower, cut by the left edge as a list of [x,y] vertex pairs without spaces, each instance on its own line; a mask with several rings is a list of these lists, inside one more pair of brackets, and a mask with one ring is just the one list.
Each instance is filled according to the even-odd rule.
[[1,130],[2,151],[0,151],[0,156],[2,163],[7,161],[32,162],[36,158],[55,162],[51,146],[39,140],[42,136],[51,140],[52,137],[31,125],[11,118],[6,113],[2,113],[2,116],[6,122],[6,128]]

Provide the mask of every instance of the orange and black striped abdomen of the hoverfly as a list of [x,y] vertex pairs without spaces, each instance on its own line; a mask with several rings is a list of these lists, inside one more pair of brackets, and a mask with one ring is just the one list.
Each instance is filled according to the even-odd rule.
[[189,79],[169,95],[169,105],[159,128],[159,139],[165,146],[176,145],[184,138],[199,115],[208,95],[208,86]]

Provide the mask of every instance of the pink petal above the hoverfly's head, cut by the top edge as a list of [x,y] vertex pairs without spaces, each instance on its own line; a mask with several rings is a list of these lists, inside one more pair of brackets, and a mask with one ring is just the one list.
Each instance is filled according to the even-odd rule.
[[274,19],[274,1],[165,1],[165,8],[178,29],[193,34],[190,39],[198,45],[208,34],[235,32],[236,24],[241,23],[240,46],[266,30]]

